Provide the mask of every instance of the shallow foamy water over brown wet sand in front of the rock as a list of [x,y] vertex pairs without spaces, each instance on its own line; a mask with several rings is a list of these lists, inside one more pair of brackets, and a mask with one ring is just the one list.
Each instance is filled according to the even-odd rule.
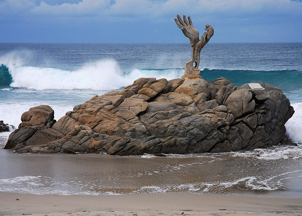
[[238,153],[15,154],[0,149],[0,191],[28,194],[226,193],[302,197],[302,158]]

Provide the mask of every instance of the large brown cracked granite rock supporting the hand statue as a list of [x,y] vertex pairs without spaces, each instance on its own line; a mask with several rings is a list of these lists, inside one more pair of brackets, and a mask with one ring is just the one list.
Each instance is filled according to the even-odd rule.
[[57,122],[47,105],[31,108],[5,149],[19,153],[188,154],[266,148],[285,138],[294,114],[268,83],[236,86],[226,78],[140,78],[122,91],[94,96]]

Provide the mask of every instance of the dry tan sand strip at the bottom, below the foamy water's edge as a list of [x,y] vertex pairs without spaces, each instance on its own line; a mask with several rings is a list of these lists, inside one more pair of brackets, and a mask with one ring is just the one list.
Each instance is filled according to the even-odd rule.
[[61,196],[0,192],[0,203],[2,204],[0,215],[302,214],[302,198],[233,196],[213,193]]

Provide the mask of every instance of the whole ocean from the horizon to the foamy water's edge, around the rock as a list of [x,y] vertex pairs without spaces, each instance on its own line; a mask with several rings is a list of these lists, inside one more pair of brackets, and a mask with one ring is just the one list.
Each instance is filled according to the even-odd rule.
[[[11,133],[4,132],[0,133],[0,192],[248,191],[257,196],[302,197],[301,56],[302,43],[208,43],[199,65],[205,80],[226,77],[237,86],[264,81],[282,89],[295,110],[285,125],[286,135],[298,146],[165,158],[18,155],[3,149]],[[0,43],[0,120],[18,127],[22,113],[42,104],[50,105],[58,120],[94,95],[123,89],[140,77],[180,78],[190,58],[188,43]]]

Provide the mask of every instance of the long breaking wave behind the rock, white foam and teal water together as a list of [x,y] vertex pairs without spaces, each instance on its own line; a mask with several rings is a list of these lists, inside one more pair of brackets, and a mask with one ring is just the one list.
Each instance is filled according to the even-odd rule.
[[[13,53],[0,58],[0,88],[19,87],[27,89],[92,89],[113,90],[132,84],[140,77],[180,78],[184,68],[135,68],[121,69],[114,59],[103,59],[84,64],[75,70],[25,65],[19,55]],[[228,78],[241,86],[244,83],[263,81],[281,88],[284,93],[300,95],[302,71],[300,70],[225,70],[201,69],[205,80]],[[286,82],[284,82],[286,80]],[[290,84],[289,84],[290,83]],[[299,96],[297,96],[299,97]],[[301,98],[299,98],[301,99]]]

